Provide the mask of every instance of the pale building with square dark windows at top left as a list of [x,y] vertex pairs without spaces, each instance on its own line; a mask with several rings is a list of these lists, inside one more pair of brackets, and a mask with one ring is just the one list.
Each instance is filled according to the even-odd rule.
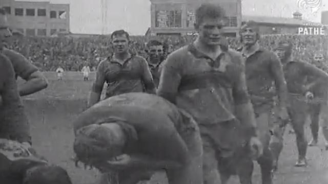
[[69,4],[1,0],[9,26],[26,36],[51,36],[70,30]]

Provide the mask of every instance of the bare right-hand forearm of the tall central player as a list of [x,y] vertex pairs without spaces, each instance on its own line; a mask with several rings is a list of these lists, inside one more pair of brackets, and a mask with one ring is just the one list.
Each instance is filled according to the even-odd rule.
[[256,119],[252,104],[243,103],[235,106],[236,117],[242,123],[242,127],[247,138],[257,136]]

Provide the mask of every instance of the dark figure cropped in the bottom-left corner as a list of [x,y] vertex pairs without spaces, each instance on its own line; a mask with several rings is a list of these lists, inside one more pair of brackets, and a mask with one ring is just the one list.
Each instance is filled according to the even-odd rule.
[[0,163],[2,184],[72,184],[65,169],[16,141],[0,139]]

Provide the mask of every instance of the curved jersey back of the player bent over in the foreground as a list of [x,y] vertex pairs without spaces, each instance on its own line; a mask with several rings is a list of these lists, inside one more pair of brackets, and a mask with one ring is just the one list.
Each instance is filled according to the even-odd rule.
[[136,140],[127,141],[123,153],[142,153],[154,159],[179,163],[182,169],[167,169],[170,184],[202,183],[199,130],[187,112],[155,95],[122,94],[81,113],[74,122],[74,132],[92,124],[118,121],[134,127],[137,134]]

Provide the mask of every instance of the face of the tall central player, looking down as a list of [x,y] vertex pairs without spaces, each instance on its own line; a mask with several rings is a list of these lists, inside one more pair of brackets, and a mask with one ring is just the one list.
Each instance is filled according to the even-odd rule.
[[219,45],[223,26],[224,21],[222,18],[204,17],[197,29],[200,41],[207,45]]

